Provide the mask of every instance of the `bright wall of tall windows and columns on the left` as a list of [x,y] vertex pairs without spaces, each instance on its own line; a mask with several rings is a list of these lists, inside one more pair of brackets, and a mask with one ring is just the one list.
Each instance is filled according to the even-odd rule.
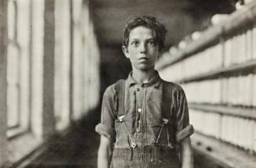
[[100,52],[86,0],[0,8],[0,166],[9,166],[98,106]]

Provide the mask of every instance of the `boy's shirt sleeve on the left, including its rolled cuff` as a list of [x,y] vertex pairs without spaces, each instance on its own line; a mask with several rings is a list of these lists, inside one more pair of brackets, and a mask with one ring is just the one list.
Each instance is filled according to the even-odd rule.
[[114,119],[116,111],[117,95],[114,86],[111,85],[109,88],[106,88],[103,95],[101,121],[96,125],[96,132],[110,139],[110,141],[114,141],[115,138]]

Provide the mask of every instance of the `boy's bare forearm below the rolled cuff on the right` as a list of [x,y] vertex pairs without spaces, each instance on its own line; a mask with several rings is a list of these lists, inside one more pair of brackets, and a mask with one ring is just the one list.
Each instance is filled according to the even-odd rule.
[[193,150],[190,138],[186,138],[180,143],[182,168],[193,168]]

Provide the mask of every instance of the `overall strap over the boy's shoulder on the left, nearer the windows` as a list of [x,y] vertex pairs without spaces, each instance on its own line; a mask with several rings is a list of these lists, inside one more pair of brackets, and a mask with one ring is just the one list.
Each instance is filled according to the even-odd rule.
[[124,115],[124,81],[118,80],[116,84],[117,91],[117,116]]

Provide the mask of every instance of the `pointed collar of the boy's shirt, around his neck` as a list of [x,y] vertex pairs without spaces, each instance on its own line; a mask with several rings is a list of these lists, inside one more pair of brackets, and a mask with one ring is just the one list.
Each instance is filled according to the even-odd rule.
[[[153,88],[157,88],[159,85],[160,85],[160,76],[159,76],[159,73],[157,72],[157,70],[155,71],[156,72],[156,76],[153,77],[149,82],[147,83],[143,83],[143,84],[140,84],[142,85],[142,87],[150,87],[152,86]],[[133,85],[135,84],[139,84],[133,77],[132,77],[132,72],[129,73],[128,75],[128,78],[126,79],[126,82],[127,82],[127,86],[130,88],[132,87]]]

